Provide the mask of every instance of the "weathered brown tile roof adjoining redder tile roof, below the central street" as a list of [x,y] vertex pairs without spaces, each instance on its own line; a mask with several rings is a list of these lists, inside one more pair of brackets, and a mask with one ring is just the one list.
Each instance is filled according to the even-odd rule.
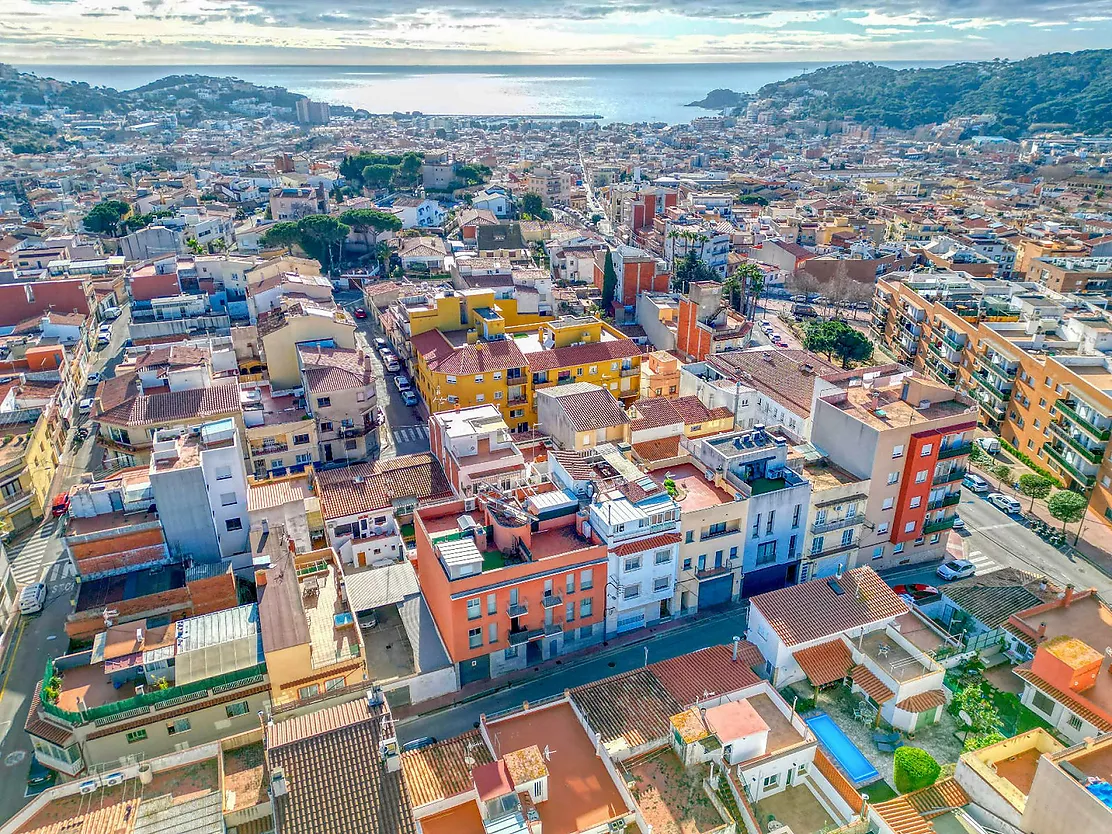
[[615,675],[570,691],[603,744],[628,749],[668,733],[668,719],[683,711],[651,668]]

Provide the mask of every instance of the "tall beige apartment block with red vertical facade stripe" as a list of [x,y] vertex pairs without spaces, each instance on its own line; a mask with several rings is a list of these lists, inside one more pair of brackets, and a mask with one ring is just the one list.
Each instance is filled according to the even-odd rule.
[[890,567],[945,553],[975,427],[970,398],[901,365],[817,399],[812,441],[870,480],[870,529],[853,562]]

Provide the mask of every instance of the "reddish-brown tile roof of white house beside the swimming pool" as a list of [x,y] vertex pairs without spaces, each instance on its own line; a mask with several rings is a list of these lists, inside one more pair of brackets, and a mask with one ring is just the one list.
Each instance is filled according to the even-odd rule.
[[812,579],[758,594],[749,604],[788,646],[831,637],[909,610],[871,567],[848,570],[837,584],[844,593],[837,594],[827,579]]

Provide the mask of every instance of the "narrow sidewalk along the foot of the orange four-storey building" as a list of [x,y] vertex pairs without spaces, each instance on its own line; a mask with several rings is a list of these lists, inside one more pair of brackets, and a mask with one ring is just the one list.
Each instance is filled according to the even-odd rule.
[[538,678],[548,677],[549,675],[572,668],[588,658],[594,659],[596,657],[605,657],[613,652],[618,652],[620,649],[628,648],[629,646],[636,646],[639,643],[647,643],[654,637],[658,637],[663,634],[681,633],[696,625],[703,625],[715,619],[725,619],[727,617],[743,615],[747,610],[747,605],[733,605],[729,608],[716,610],[712,614],[696,614],[693,617],[673,619],[668,623],[662,623],[661,625],[638,628],[636,632],[618,635],[617,637],[613,637],[605,643],[590,646],[582,652],[576,652],[573,655],[564,655],[562,657],[555,657],[550,661],[544,661],[543,663],[538,663],[527,669],[512,672],[510,674],[503,675],[498,678],[476,681],[475,683],[460,687],[457,692],[448,693],[447,695],[443,695],[438,698],[421,701],[419,704],[406,704],[394,708],[391,712],[394,713],[396,721],[405,721],[407,718],[431,715],[440,712],[441,709],[458,706],[459,704],[466,704],[467,702],[476,701],[478,698],[486,697],[487,695],[493,695],[497,692],[502,692],[503,689],[508,689],[525,681],[536,681]]

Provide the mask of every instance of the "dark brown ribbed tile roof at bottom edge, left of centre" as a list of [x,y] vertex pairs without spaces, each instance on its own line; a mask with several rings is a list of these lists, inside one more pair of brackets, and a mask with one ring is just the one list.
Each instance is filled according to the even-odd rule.
[[267,764],[288,792],[274,803],[282,834],[416,834],[401,771],[379,751],[381,707],[366,698],[278,722],[267,731]]

